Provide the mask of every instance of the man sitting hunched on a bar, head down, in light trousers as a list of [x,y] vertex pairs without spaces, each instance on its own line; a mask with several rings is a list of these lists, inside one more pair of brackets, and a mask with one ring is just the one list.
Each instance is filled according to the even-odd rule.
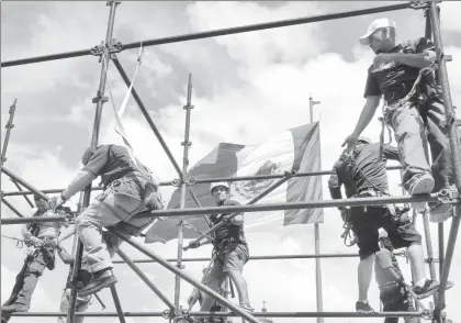
[[136,236],[154,219],[133,216],[161,209],[162,202],[158,181],[125,147],[101,145],[95,152],[88,148],[81,162],[85,167],[50,203],[64,204],[101,176],[104,191],[76,219],[76,232],[83,244],[82,268],[92,274],[91,281],[79,290],[79,297],[85,297],[117,281],[112,274],[113,265],[102,236],[102,227],[115,227]]

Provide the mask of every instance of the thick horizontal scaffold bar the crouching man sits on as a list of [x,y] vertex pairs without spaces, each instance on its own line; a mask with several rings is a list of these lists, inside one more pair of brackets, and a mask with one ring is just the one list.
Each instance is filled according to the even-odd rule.
[[[261,212],[261,211],[281,211],[281,210],[302,210],[302,209],[318,209],[318,208],[339,208],[339,207],[363,207],[363,205],[380,205],[391,203],[411,203],[411,202],[437,202],[437,193],[424,196],[404,196],[404,197],[376,197],[376,198],[360,198],[360,199],[342,199],[342,200],[319,200],[311,202],[290,202],[290,203],[261,203],[251,205],[233,205],[233,207],[207,207],[193,209],[168,209],[160,211],[153,211],[136,215],[138,218],[149,216],[188,216],[188,215],[203,215],[213,213],[235,213],[235,212]],[[46,218],[9,218],[1,219],[1,224],[20,224],[20,223],[38,223],[38,222],[59,222],[65,221],[64,216],[46,216]]]

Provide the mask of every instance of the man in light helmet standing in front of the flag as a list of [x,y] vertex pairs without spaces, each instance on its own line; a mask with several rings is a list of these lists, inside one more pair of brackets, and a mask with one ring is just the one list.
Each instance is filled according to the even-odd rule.
[[[214,182],[211,185],[211,194],[214,197],[216,205],[239,205],[237,201],[229,199],[231,188],[227,182]],[[216,225],[224,221],[226,225],[214,232],[215,261],[204,279],[204,283],[214,291],[218,291],[223,281],[228,275],[235,285],[238,293],[240,308],[252,312],[249,303],[247,282],[241,275],[244,265],[248,261],[249,250],[244,233],[244,214],[240,213],[232,220],[231,213],[212,214],[210,221]],[[213,305],[213,298],[204,294],[200,311],[207,312]]]

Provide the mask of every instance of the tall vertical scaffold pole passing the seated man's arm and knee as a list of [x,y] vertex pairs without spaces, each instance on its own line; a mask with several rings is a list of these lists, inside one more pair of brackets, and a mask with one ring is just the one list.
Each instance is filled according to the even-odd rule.
[[[108,1],[106,5],[110,7],[109,12],[109,22],[108,22],[108,31],[105,33],[105,43],[103,45],[103,59],[102,59],[102,67],[101,67],[101,77],[99,81],[99,89],[97,92],[95,98],[93,99],[93,103],[95,103],[95,113],[94,113],[94,123],[93,123],[93,133],[91,136],[91,149],[95,151],[98,147],[99,141],[99,131],[101,125],[101,115],[102,115],[102,105],[104,104],[108,99],[104,97],[105,92],[105,82],[108,78],[108,67],[110,62],[110,53],[108,49],[108,44],[112,40],[112,33],[114,29],[114,19],[115,19],[115,9],[120,4],[116,1]],[[90,196],[91,196],[91,185],[89,185],[85,189],[83,201],[82,201],[82,210],[85,210],[90,203]],[[77,252],[76,252],[76,259],[74,264],[74,271],[72,271],[72,288],[70,292],[70,300],[69,300],[69,312],[67,313],[67,323],[75,322],[75,314],[76,314],[76,303],[77,303],[77,282],[78,282],[78,274],[81,267],[81,256],[83,254],[83,245],[82,243],[76,238],[77,242]]]

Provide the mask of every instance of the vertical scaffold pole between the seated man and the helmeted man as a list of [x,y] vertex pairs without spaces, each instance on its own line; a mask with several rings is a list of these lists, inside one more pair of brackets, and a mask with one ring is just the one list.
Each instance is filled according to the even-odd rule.
[[[182,178],[181,178],[181,200],[180,200],[180,209],[183,209],[185,205],[185,193],[188,189],[187,183],[187,174],[188,174],[188,166],[189,166],[189,148],[192,145],[189,142],[189,132],[191,127],[191,110],[193,105],[191,104],[192,101],[192,74],[189,74],[189,81],[188,81],[188,99],[187,103],[183,107],[185,110],[185,130],[184,130],[184,141],[181,145],[184,147],[183,156],[182,156]],[[182,269],[182,245],[183,245],[183,219],[179,220],[178,223],[178,258],[176,266],[178,269]],[[176,311],[179,311],[179,298],[181,291],[181,277],[175,277],[175,308]],[[179,314],[179,313],[178,313]]]

